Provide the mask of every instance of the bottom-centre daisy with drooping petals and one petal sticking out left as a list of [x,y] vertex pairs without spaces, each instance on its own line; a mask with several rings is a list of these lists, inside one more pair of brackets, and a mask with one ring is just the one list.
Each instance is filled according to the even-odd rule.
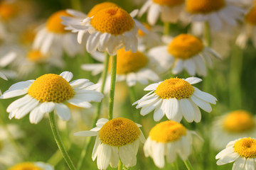
[[135,166],[139,142],[145,141],[139,129],[141,125],[127,118],[101,118],[96,125],[96,128],[76,132],[75,135],[96,136],[92,160],[97,158],[98,169],[107,169],[109,164],[112,168],[117,168],[119,159],[127,168]]

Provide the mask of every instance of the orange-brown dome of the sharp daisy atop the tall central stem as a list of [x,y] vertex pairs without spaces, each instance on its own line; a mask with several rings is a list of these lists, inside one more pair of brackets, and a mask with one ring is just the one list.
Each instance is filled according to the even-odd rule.
[[122,8],[110,7],[95,13],[90,24],[95,30],[112,35],[122,35],[122,33],[132,30],[134,21],[132,17]]

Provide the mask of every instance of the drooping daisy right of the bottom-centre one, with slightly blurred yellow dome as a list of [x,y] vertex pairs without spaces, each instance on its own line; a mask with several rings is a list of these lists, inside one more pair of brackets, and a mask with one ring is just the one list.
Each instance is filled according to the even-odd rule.
[[146,139],[144,154],[159,168],[164,168],[164,156],[168,163],[175,162],[177,154],[185,161],[191,154],[192,133],[195,132],[171,120],[156,124]]

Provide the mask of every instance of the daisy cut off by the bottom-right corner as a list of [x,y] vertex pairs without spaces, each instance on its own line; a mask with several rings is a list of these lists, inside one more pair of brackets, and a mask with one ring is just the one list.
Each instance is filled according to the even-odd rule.
[[218,159],[218,165],[234,162],[232,169],[256,169],[256,139],[245,137],[233,140],[216,155],[215,159]]

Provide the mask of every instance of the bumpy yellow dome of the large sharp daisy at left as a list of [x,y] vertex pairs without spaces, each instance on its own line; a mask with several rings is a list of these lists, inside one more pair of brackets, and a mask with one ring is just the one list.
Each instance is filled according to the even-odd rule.
[[57,74],[44,74],[38,77],[28,89],[28,95],[41,102],[63,103],[74,94],[68,81]]

